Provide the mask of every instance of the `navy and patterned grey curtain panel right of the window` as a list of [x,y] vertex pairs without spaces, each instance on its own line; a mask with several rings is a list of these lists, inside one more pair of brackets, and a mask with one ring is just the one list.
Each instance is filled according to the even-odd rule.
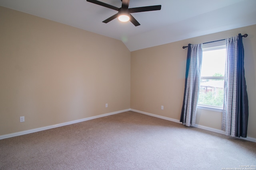
[[232,137],[246,137],[248,125],[248,96],[244,76],[244,47],[242,35],[226,39],[224,106],[222,130]]

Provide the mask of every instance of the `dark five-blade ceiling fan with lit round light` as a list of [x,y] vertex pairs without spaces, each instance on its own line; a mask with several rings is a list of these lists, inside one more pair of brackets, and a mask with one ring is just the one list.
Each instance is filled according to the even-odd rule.
[[131,13],[161,10],[161,5],[143,6],[143,7],[137,7],[137,8],[128,8],[130,0],[121,0],[122,1],[122,7],[121,8],[117,8],[115,6],[106,4],[104,2],[100,2],[98,0],[86,0],[86,1],[87,2],[92,2],[94,4],[98,4],[100,6],[110,8],[112,10],[118,11],[117,14],[115,14],[115,15],[111,16],[110,18],[102,21],[104,23],[108,23],[109,21],[112,21],[115,18],[118,18],[120,21],[123,21],[123,22],[126,22],[126,21],[130,20],[135,26],[138,26],[138,25],[140,25],[140,23],[131,15]]

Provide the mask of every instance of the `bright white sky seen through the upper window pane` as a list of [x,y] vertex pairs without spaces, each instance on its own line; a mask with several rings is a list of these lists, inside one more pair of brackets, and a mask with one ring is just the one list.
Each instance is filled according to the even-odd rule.
[[201,76],[213,76],[215,73],[225,74],[226,49],[203,51]]

